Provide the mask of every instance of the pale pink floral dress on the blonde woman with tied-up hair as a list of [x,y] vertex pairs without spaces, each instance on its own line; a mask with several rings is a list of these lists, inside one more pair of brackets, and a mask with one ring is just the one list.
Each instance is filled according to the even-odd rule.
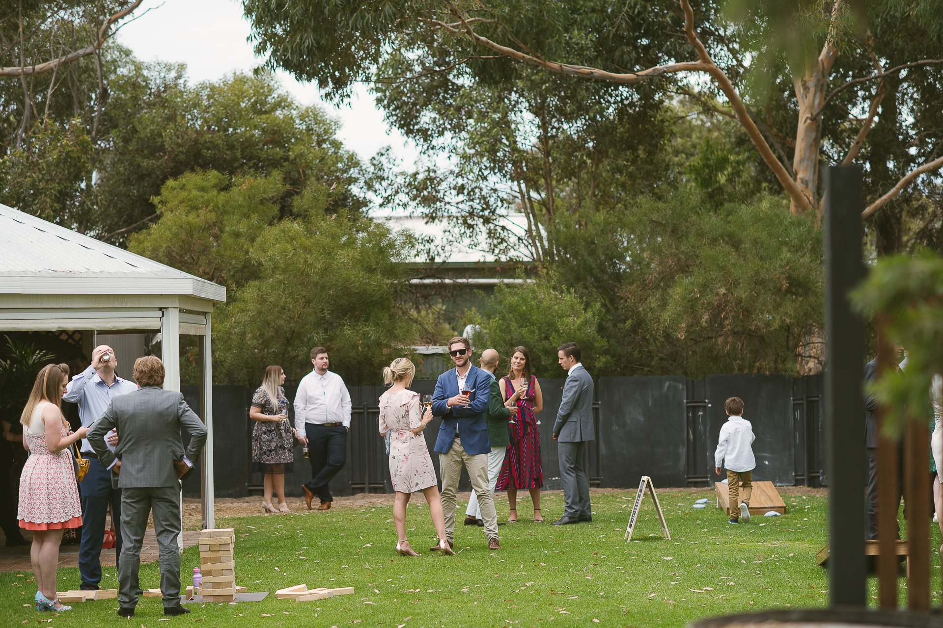
[[425,437],[422,432],[412,433],[412,428],[421,425],[419,393],[403,390],[380,395],[380,433],[390,433],[389,477],[394,491],[422,491],[438,484]]

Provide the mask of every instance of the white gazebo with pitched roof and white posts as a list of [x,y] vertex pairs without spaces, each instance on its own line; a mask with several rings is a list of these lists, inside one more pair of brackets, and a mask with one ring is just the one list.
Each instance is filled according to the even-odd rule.
[[225,299],[222,285],[0,204],[0,332],[81,331],[87,354],[98,333],[159,332],[164,388],[174,391],[180,334],[198,337],[204,527],[215,527],[210,321]]

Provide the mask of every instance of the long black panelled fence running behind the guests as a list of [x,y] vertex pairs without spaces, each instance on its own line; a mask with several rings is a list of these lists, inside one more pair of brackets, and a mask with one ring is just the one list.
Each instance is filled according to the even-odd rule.
[[[681,377],[601,378],[596,383],[594,420],[597,438],[590,443],[591,486],[634,488],[640,475],[653,477],[655,486],[707,486],[721,478],[714,474],[714,450],[720,426],[726,420],[723,402],[739,396],[746,404],[745,416],[753,423],[756,442],[753,452],[758,480],[779,485],[825,484],[822,450],[821,376],[791,378],[784,375],[717,375],[705,379]],[[554,420],[559,409],[565,378],[540,378],[543,411],[537,415],[544,488],[560,489],[559,458],[553,440]],[[286,386],[294,399],[297,386]],[[416,380],[412,389],[431,395],[434,380]],[[184,395],[195,410],[199,390],[184,387]],[[347,439],[347,461],[331,482],[337,495],[356,492],[390,492],[389,459],[378,429],[379,396],[382,386],[349,386],[353,405]],[[261,474],[252,473],[252,430],[249,404],[254,388],[213,387],[215,486],[219,497],[244,497],[262,491]],[[289,416],[294,421],[294,409]],[[433,449],[440,420],[434,419],[423,432],[433,465]],[[189,440],[189,436],[185,435]],[[198,472],[184,483],[186,496],[198,496]],[[285,490],[300,496],[301,486],[311,478],[309,459],[296,444],[294,463],[285,476]],[[460,491],[471,484],[463,471]]]

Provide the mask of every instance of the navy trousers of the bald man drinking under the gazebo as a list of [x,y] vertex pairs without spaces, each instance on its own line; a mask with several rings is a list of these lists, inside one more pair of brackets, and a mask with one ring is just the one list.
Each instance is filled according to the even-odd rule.
[[111,472],[98,459],[89,459],[89,471],[82,478],[82,542],[78,547],[78,572],[82,588],[97,589],[102,581],[102,541],[108,502],[115,523],[115,571],[121,556],[121,489],[111,488]]

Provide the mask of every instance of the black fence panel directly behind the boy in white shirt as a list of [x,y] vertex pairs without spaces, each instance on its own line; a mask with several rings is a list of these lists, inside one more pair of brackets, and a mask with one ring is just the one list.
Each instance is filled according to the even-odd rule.
[[[720,426],[727,420],[723,403],[729,397],[743,399],[743,417],[753,425],[753,479],[791,486],[796,481],[793,447],[792,378],[786,375],[709,375],[707,388],[707,453],[713,482],[714,451]],[[713,482],[711,484],[713,484]]]

